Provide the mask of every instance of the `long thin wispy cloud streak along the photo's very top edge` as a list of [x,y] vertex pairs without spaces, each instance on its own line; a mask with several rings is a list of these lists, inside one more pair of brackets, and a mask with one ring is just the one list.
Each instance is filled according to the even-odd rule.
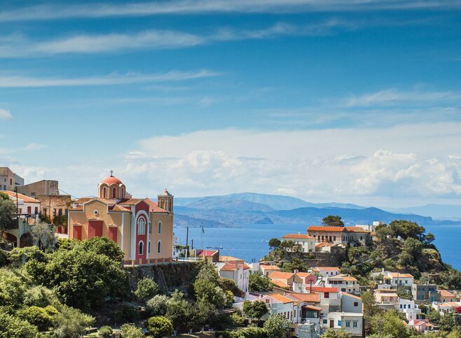
[[446,0],[176,0],[138,3],[43,4],[3,10],[0,22],[66,18],[139,17],[203,13],[299,13],[315,11],[459,8]]

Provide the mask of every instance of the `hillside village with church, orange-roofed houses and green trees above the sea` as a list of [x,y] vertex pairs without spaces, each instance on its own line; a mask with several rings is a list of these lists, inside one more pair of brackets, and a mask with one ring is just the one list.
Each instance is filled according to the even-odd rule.
[[112,171],[78,199],[0,183],[1,337],[461,337],[461,274],[416,223],[326,216],[245,262],[177,244],[173,195]]

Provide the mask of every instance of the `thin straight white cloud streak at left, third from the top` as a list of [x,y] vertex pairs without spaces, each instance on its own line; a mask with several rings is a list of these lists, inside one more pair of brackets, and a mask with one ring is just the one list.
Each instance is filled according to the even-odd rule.
[[167,73],[126,73],[82,78],[40,78],[27,76],[0,76],[0,87],[75,87],[89,85],[128,85],[132,83],[156,83],[193,80],[218,76],[219,73],[202,69],[200,71],[168,71]]

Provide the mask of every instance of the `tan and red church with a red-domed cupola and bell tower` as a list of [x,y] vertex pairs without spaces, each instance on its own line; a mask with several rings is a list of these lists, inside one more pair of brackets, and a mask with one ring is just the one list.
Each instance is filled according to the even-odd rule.
[[68,213],[69,239],[106,236],[125,253],[125,264],[172,261],[173,195],[166,189],[157,202],[133,198],[111,175],[97,185],[97,197],[82,197]]

